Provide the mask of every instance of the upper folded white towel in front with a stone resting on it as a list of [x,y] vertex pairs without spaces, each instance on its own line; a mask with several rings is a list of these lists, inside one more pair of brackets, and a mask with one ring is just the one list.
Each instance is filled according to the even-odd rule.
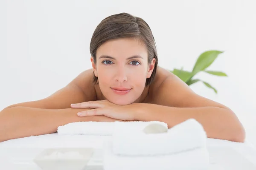
[[177,153],[206,146],[207,135],[195,119],[188,119],[166,133],[145,134],[127,131],[119,122],[113,133],[113,153],[126,156],[149,156]]

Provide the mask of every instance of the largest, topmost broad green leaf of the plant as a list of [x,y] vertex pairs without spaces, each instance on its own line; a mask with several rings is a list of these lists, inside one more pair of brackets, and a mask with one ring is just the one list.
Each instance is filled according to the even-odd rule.
[[205,51],[204,53],[202,53],[196,63],[195,66],[193,68],[193,75],[197,74],[199,71],[204,71],[207,67],[209,67],[212,62],[214,62],[214,60],[218,57],[218,54],[223,53],[224,51]]

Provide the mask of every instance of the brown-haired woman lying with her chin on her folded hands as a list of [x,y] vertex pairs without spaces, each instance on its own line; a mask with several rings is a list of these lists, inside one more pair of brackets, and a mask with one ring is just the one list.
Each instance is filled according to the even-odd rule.
[[81,121],[152,121],[173,127],[200,122],[209,138],[244,142],[244,128],[224,105],[195,94],[171,72],[158,67],[148,24],[127,13],[97,26],[90,43],[92,69],[38,101],[0,112],[0,141],[54,133]]

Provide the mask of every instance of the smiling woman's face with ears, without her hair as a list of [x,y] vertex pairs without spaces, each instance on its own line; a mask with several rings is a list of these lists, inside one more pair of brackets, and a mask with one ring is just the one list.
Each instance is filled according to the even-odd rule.
[[155,59],[148,64],[144,43],[135,38],[109,40],[96,51],[96,65],[91,57],[99,88],[108,101],[116,105],[135,102],[154,69]]

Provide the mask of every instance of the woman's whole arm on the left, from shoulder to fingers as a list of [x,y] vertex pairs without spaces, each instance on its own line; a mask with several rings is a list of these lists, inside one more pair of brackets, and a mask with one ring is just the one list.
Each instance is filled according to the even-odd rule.
[[116,120],[106,116],[80,118],[77,112],[88,109],[70,108],[71,103],[95,100],[92,74],[92,70],[84,71],[67,86],[45,99],[18,103],[3,109],[0,112],[0,142],[54,133],[58,126],[70,122]]

